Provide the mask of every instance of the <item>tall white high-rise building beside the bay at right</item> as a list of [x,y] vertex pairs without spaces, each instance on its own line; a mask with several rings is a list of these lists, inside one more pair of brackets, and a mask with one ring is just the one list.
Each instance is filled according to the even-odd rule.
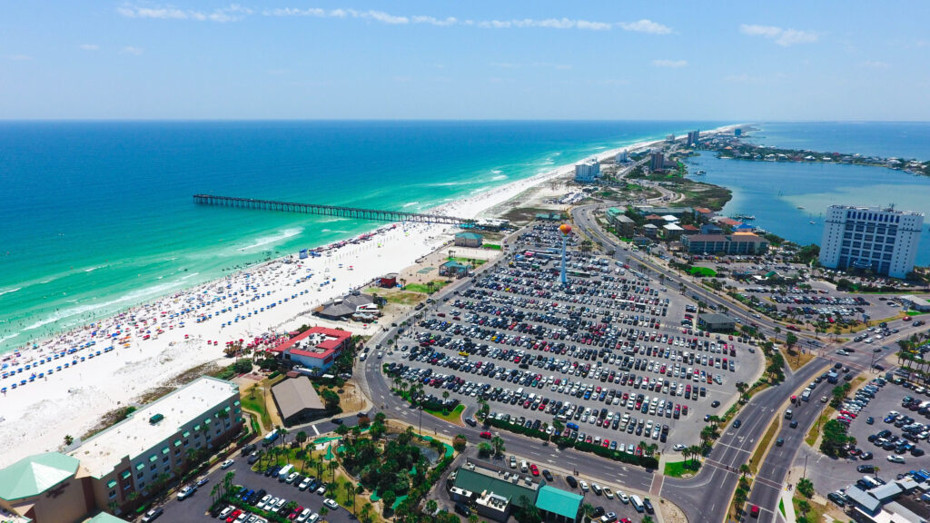
[[820,241],[820,264],[907,277],[914,269],[922,229],[922,212],[830,206]]

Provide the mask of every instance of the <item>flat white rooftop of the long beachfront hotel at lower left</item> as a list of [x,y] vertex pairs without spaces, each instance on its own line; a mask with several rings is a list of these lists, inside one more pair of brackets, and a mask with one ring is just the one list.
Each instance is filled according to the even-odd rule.
[[[198,419],[203,422],[207,415],[212,417],[213,409],[237,392],[234,383],[206,376],[199,378],[87,439],[69,455],[80,460],[90,476],[106,476],[126,456],[132,461],[177,434],[182,426]],[[155,414],[161,414],[164,419],[150,422]]]

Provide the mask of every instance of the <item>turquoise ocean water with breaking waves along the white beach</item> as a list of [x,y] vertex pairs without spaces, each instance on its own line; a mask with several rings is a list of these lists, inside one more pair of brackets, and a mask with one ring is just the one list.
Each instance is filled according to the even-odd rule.
[[424,210],[716,122],[0,123],[0,352],[379,223],[210,193]]

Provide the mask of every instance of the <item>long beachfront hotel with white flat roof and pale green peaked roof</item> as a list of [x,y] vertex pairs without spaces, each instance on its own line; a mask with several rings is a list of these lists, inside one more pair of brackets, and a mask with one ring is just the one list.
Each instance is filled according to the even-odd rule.
[[74,523],[100,511],[126,513],[237,436],[239,401],[236,384],[199,378],[67,453],[25,457],[0,469],[0,514],[18,523]]

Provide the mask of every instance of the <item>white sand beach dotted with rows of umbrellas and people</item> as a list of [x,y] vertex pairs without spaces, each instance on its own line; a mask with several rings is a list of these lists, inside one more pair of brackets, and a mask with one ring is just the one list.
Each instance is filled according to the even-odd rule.
[[[733,127],[738,126],[704,132],[725,132]],[[662,142],[638,141],[593,156],[603,159],[622,150]],[[427,212],[484,217],[491,209],[506,208],[519,195],[537,189],[546,181],[564,178],[573,170],[574,163],[558,166]],[[93,324],[33,342],[33,350],[20,349],[17,367],[22,369],[26,360],[31,360],[31,366],[46,358],[48,361],[17,374],[17,382],[22,376],[27,384],[16,390],[7,388],[0,395],[3,420],[0,438],[11,448],[0,457],[0,466],[23,455],[59,449],[65,435],[77,438],[85,434],[106,412],[125,407],[186,370],[228,360],[222,350],[226,342],[259,340],[273,344],[272,333],[296,329],[302,324],[326,324],[325,320],[312,316],[311,310],[317,304],[362,288],[379,275],[413,265],[418,258],[444,245],[455,230],[454,226],[433,224],[381,225],[373,228],[377,234],[332,249],[328,255],[294,260],[294,253],[259,262],[124,309]],[[198,317],[207,319],[198,321]],[[356,323],[340,327],[354,334],[379,329],[377,325]],[[112,349],[106,350],[109,347]],[[7,358],[4,363],[10,364],[13,354],[2,355]],[[82,356],[85,361],[81,361]],[[72,363],[75,357],[76,365]],[[62,362],[69,367],[65,369]],[[59,366],[62,368],[58,369]],[[44,375],[39,377],[39,372]],[[36,377],[29,382],[33,373]],[[88,373],[88,378],[84,378],[84,373]],[[10,379],[2,380],[0,387],[9,387],[10,383]]]

